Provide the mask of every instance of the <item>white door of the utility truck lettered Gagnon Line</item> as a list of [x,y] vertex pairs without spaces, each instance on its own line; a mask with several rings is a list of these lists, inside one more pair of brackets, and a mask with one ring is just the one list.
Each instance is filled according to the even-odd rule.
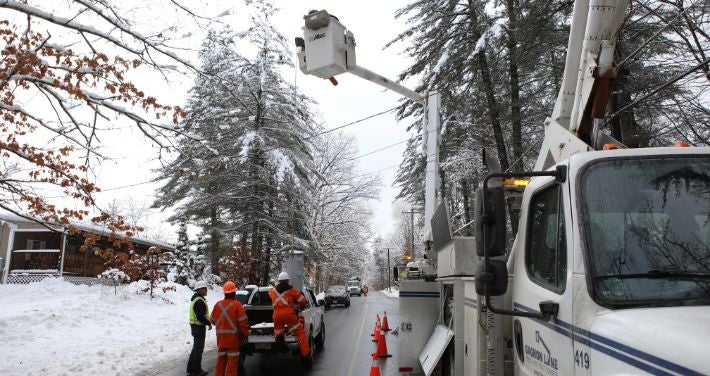
[[[559,304],[556,319],[515,317],[513,338],[517,373],[521,375],[573,374],[571,257],[567,250],[572,223],[566,185],[551,178],[536,179],[528,190],[527,205],[516,242],[513,308],[539,312],[539,303]],[[527,192],[526,192],[527,193]]]

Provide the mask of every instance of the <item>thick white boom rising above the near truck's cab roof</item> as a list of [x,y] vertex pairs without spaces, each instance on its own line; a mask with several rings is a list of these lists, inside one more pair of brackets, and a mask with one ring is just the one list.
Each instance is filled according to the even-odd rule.
[[545,121],[545,139],[535,170],[545,170],[570,155],[618,141],[598,131],[617,68],[616,35],[627,0],[577,0],[567,43],[562,86]]

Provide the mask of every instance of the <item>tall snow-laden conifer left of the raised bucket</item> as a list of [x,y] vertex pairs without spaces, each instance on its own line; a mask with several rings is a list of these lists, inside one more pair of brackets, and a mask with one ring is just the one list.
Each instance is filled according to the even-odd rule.
[[[217,268],[224,252],[247,250],[253,283],[265,283],[276,264],[272,251],[298,242],[308,246],[303,197],[311,155],[305,140],[315,133],[311,101],[288,84],[279,67],[290,65],[286,39],[270,23],[273,7],[254,2],[247,31],[212,31],[201,50],[202,70],[178,139],[181,155],[162,171],[168,179],[156,207],[179,203],[178,212],[210,234]],[[254,57],[237,52],[247,42]],[[199,139],[199,142],[195,142]],[[293,239],[293,240],[292,240]]]

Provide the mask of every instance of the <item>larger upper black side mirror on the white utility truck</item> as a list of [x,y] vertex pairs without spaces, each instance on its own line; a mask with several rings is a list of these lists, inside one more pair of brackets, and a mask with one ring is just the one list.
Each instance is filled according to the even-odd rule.
[[[476,189],[474,203],[474,236],[476,237],[476,255],[484,256],[488,248],[489,257],[505,254],[505,194],[503,187],[490,187],[486,196],[488,213],[483,212],[483,187]],[[484,239],[485,228],[485,239]]]

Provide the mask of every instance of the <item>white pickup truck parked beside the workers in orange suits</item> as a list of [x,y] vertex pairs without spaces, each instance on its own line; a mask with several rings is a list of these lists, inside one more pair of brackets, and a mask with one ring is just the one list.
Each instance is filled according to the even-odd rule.
[[[300,355],[298,342],[293,335],[285,336],[286,346],[279,346],[274,338],[273,308],[269,290],[271,287],[258,287],[239,295],[239,300],[244,305],[244,310],[249,318],[249,337],[242,344],[239,368],[244,367],[248,355],[255,353],[278,354],[291,353]],[[305,322],[306,337],[311,347],[311,357],[304,359],[306,365],[313,363],[313,353],[325,345],[325,324],[323,323],[323,305],[325,302],[317,301],[313,291],[305,288],[302,292],[306,297],[307,306],[299,312]],[[245,296],[246,295],[246,296]]]

